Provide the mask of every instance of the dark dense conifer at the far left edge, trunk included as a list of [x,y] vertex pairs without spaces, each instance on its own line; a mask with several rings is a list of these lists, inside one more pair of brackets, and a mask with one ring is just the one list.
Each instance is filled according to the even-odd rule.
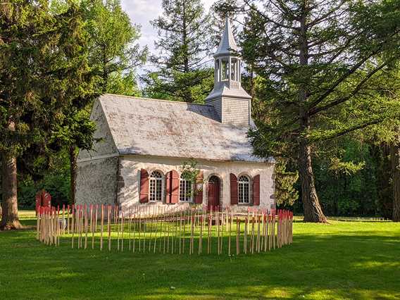
[[17,158],[33,144],[46,149],[73,101],[65,92],[91,76],[77,6],[54,14],[48,1],[15,0],[1,3],[0,14],[0,227],[18,229]]

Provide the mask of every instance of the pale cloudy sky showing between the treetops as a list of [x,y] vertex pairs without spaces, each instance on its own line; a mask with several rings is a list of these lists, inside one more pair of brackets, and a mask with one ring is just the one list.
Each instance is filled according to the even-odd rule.
[[[131,22],[142,26],[142,37],[139,39],[139,44],[141,46],[149,46],[151,52],[154,52],[157,30],[150,25],[149,21],[161,15],[163,11],[161,2],[162,0],[121,0],[121,5],[130,16]],[[214,2],[215,0],[203,0],[206,11]]]

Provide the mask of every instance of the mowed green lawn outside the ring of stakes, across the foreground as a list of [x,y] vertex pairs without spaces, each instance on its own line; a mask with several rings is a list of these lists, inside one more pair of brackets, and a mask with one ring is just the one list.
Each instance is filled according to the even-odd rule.
[[[35,225],[32,213],[22,213]],[[294,223],[266,254],[132,254],[0,232],[0,299],[400,299],[400,224]]]

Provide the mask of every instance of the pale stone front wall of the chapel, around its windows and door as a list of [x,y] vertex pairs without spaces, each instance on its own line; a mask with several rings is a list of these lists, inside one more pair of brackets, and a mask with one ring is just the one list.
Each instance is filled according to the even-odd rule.
[[[180,158],[162,158],[154,156],[123,156],[120,158],[118,171],[118,204],[124,211],[137,206],[161,206],[162,202],[139,203],[140,169],[144,168],[150,174],[154,170],[161,171],[163,175],[170,170],[180,173],[180,166],[184,160]],[[220,204],[223,208],[230,207],[230,173],[237,177],[245,174],[253,178],[260,175],[260,206],[258,208],[275,208],[275,182],[274,165],[271,163],[245,163],[245,162],[211,162],[199,161],[199,169],[204,173],[203,204],[207,204],[207,181],[211,175],[220,178]],[[251,186],[251,185],[250,185]],[[165,188],[163,191],[165,199]],[[168,208],[175,205],[187,206],[187,203],[168,204]],[[249,206],[235,206],[235,210],[246,211]]]

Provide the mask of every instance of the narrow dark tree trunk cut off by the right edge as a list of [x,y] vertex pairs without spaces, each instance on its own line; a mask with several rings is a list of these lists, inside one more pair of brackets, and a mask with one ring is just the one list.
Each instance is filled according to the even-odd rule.
[[393,216],[394,222],[400,222],[400,144],[390,147],[390,160],[392,161],[393,182]]

